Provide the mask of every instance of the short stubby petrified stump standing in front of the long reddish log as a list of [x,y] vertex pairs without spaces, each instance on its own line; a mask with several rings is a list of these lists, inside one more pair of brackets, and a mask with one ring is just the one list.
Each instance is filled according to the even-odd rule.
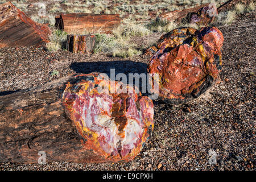
[[66,48],[73,53],[90,53],[95,46],[95,35],[68,35]]

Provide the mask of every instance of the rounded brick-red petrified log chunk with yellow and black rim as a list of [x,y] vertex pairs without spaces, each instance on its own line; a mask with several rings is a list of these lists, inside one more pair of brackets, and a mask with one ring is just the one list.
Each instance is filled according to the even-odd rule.
[[187,102],[212,85],[222,67],[224,38],[216,27],[176,28],[163,35],[148,72],[159,75],[159,98]]

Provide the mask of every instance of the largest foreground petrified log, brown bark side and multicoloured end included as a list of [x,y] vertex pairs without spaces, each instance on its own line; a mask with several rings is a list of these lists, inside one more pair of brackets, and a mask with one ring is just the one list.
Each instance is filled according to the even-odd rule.
[[152,101],[134,93],[97,94],[94,81],[95,74],[67,76],[0,96],[0,162],[37,163],[39,151],[47,163],[133,159],[154,127]]

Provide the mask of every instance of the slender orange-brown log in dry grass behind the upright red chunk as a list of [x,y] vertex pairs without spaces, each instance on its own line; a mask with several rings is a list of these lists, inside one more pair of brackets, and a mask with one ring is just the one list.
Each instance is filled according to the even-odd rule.
[[169,12],[166,12],[166,13],[159,14],[159,17],[162,18],[162,19],[166,19],[168,21],[171,21],[171,22],[172,21],[181,22],[181,19],[185,18],[188,13],[196,13],[202,7],[208,6],[208,5],[209,5],[209,3],[204,4],[204,5],[200,5],[200,6],[196,6],[196,7],[192,7],[192,8],[189,8],[189,9],[185,9],[185,10],[169,11]]

